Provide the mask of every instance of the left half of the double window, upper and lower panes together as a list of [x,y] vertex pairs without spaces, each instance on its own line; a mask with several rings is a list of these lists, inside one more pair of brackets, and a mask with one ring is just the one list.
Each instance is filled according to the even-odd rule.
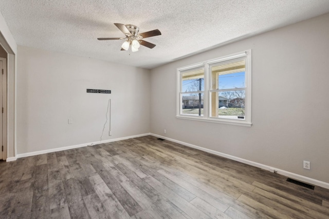
[[204,115],[204,68],[180,72],[180,114],[189,116]]

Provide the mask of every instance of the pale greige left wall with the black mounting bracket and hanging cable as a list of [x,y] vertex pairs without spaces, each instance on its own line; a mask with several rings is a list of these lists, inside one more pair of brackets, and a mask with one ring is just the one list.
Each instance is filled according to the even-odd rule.
[[[18,154],[150,132],[150,70],[19,46]],[[86,93],[87,88],[112,94]],[[68,125],[68,118],[73,124]]]

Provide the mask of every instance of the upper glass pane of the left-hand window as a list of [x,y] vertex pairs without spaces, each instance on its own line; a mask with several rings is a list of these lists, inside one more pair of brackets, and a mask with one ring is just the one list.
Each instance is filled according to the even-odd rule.
[[181,92],[204,91],[204,69],[181,73]]

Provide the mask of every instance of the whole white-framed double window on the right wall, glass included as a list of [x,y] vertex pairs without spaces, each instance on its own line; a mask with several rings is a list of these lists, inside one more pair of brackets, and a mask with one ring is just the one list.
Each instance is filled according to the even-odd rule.
[[177,69],[177,118],[251,126],[251,50]]

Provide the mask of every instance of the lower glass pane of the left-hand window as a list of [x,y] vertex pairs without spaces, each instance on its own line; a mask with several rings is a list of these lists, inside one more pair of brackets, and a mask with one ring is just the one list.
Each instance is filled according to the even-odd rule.
[[203,93],[181,94],[181,101],[182,101],[181,112],[183,115],[203,116],[204,114]]

